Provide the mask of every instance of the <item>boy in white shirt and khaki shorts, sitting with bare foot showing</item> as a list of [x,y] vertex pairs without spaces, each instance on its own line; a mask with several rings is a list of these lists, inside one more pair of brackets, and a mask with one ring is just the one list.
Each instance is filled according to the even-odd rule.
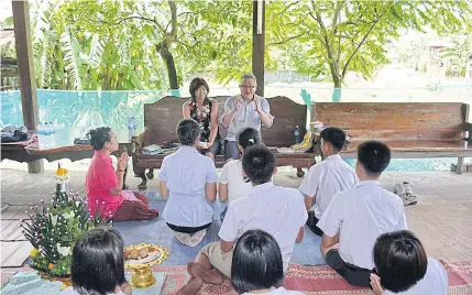
[[248,230],[261,229],[274,236],[281,248],[284,271],[295,243],[304,237],[308,216],[303,195],[295,188],[275,186],[271,182],[276,172],[274,154],[265,145],[251,146],[243,155],[242,167],[253,189],[228,207],[219,232],[221,240],[204,247],[195,262],[187,264],[191,277],[201,277],[209,284],[221,284],[223,275],[231,277],[233,245]]

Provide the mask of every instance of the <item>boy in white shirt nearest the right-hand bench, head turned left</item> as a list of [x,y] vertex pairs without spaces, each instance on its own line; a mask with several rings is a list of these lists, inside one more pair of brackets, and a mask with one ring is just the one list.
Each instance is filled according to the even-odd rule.
[[[354,170],[340,155],[345,144],[345,133],[342,129],[329,127],[321,131],[321,152],[325,160],[310,167],[308,175],[298,188],[305,195],[308,211],[308,228],[322,236],[316,223],[337,193],[354,188],[359,182]],[[315,210],[310,210],[314,207]]]

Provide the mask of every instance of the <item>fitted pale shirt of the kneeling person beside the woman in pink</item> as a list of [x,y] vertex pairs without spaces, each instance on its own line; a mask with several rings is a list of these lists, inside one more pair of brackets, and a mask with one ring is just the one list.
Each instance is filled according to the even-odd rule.
[[205,185],[218,179],[211,159],[193,146],[180,146],[164,157],[158,177],[166,182],[169,192],[163,212],[167,223],[195,228],[213,220],[213,209],[205,193]]

